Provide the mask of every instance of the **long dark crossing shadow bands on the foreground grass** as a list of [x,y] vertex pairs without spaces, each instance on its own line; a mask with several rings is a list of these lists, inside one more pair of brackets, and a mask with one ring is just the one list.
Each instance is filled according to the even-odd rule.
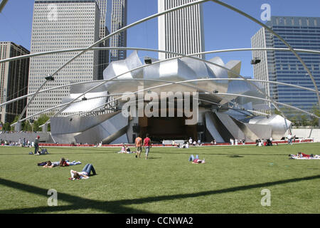
[[[261,187],[270,187],[273,185],[284,185],[291,182],[300,182],[306,180],[316,180],[320,179],[320,175],[311,176],[311,177],[300,177],[294,178],[289,180],[279,180],[274,182],[265,182],[255,185],[245,185],[245,186],[238,186],[238,187],[230,187],[223,190],[210,190],[210,191],[203,191],[203,192],[195,192],[190,194],[178,194],[178,195],[162,195],[162,196],[155,196],[155,197],[145,197],[141,199],[120,199],[115,201],[99,201],[94,199],[85,199],[82,197],[77,197],[65,193],[58,193],[58,200],[62,200],[65,202],[70,203],[70,205],[64,206],[56,206],[56,207],[32,207],[32,208],[17,208],[17,209],[3,209],[0,210],[0,214],[22,214],[22,213],[46,213],[46,212],[57,212],[62,213],[68,210],[79,210],[79,209],[94,209],[100,212],[109,212],[115,214],[147,214],[151,212],[143,211],[140,209],[134,209],[127,207],[132,206],[133,204],[145,204],[151,202],[161,202],[166,200],[174,200],[174,199],[187,199],[192,197],[203,197],[207,195],[218,195],[228,192],[238,192],[244,190],[250,190],[255,188]],[[22,190],[25,192],[29,192],[35,195],[41,195],[43,197],[48,197],[47,192],[40,187],[35,187],[31,185],[25,185],[18,182],[14,182],[11,180],[5,180],[0,178],[0,185],[11,187],[17,190]]]

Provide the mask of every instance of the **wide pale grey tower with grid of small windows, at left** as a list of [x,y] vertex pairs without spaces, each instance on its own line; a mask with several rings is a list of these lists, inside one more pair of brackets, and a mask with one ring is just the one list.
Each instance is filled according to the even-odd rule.
[[[36,0],[33,9],[31,53],[70,48],[86,48],[100,38],[100,9],[95,0]],[[57,53],[31,58],[28,93],[34,93],[48,74],[73,58],[76,53]],[[87,51],[55,75],[55,81],[46,88],[63,86],[80,81],[97,80],[99,52]],[[60,88],[36,96],[28,106],[27,114],[60,105],[70,95],[70,88]],[[50,110],[55,113],[59,108]],[[34,118],[37,118],[35,116]]]

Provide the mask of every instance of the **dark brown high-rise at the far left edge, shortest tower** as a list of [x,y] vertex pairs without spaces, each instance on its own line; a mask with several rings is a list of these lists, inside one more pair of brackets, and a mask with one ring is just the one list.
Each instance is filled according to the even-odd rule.
[[[30,51],[12,42],[0,42],[0,59],[28,55]],[[0,63],[0,103],[28,93],[29,58]],[[0,108],[0,121],[12,123],[26,107],[26,98]]]

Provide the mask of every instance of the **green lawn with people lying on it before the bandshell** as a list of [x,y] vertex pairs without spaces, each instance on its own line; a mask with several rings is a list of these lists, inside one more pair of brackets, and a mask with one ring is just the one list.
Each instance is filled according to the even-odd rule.
[[[320,154],[320,143],[273,147],[153,147],[149,160],[110,147],[0,147],[0,214],[3,213],[319,213],[320,160],[289,160],[298,151]],[[199,155],[206,164],[193,165]],[[144,156],[144,153],[142,154]],[[38,167],[60,157],[72,167]],[[68,180],[70,170],[94,165],[97,175]],[[48,206],[48,190],[58,206]],[[261,191],[271,193],[263,207]]]

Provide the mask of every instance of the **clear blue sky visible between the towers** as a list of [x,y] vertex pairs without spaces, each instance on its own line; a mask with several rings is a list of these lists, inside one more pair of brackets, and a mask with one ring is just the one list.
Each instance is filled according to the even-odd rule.
[[[127,0],[128,24],[157,13],[157,0]],[[319,0],[223,0],[225,3],[260,19],[262,4],[270,4],[272,16],[320,16]],[[33,0],[9,0],[0,14],[0,41],[13,41],[30,49]],[[250,48],[250,38],[260,26],[223,6],[208,1],[203,4],[206,51],[228,48]],[[128,47],[158,48],[157,19],[128,30]],[[156,58],[156,53],[139,56]],[[227,63],[242,61],[242,76],[252,77],[251,52],[219,53]],[[207,55],[206,59],[214,55]]]

